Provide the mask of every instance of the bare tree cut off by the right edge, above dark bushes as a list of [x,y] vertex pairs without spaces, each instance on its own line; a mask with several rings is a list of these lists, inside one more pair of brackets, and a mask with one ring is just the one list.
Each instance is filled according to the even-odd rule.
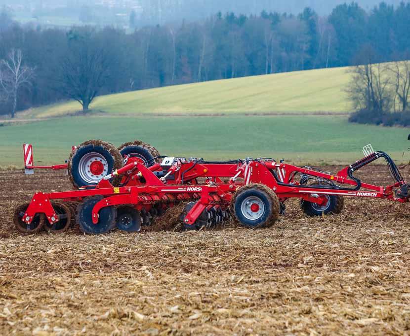
[[393,87],[401,110],[407,111],[410,99],[410,61],[394,62],[389,69],[394,76]]

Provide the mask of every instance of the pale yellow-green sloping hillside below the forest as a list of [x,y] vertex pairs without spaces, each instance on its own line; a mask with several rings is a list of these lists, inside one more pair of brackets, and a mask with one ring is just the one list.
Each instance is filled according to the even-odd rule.
[[[278,73],[102,96],[91,108],[110,114],[235,114],[346,112],[347,68]],[[52,117],[81,109],[78,102],[49,105],[21,117]]]

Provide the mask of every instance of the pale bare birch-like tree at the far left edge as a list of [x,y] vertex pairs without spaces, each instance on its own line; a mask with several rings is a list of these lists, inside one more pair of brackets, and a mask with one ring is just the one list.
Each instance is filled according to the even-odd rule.
[[11,118],[16,114],[19,90],[31,85],[34,72],[34,68],[23,65],[21,50],[12,49],[8,57],[0,61],[0,100],[11,100]]

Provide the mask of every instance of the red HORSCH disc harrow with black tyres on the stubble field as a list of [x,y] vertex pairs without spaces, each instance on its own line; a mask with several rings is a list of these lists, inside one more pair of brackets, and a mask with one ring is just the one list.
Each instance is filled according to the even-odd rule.
[[[64,232],[77,223],[82,232],[102,234],[119,228],[138,232],[167,209],[185,202],[180,220],[186,229],[212,227],[231,215],[249,228],[272,225],[285,211],[288,199],[300,199],[308,216],[339,214],[343,197],[409,202],[409,185],[384,152],[364,148],[365,157],[332,174],[296,167],[271,158],[210,162],[197,158],[160,156],[141,141],[115,148],[91,140],[73,147],[66,165],[36,167],[32,147],[24,145],[26,169],[68,169],[75,190],[36,193],[15,211],[21,232],[43,228]],[[363,183],[354,173],[384,159],[394,183]],[[166,215],[166,214],[165,214]]]

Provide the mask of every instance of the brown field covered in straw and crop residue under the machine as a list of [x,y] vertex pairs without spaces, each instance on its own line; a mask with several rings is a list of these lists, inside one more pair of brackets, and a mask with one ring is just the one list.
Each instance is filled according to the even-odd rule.
[[[388,183],[380,169],[367,181]],[[68,178],[14,170],[0,183],[1,335],[410,329],[408,204],[346,199],[339,216],[307,218],[291,201],[276,226],[256,231],[19,235],[14,208],[36,190],[67,190]]]

